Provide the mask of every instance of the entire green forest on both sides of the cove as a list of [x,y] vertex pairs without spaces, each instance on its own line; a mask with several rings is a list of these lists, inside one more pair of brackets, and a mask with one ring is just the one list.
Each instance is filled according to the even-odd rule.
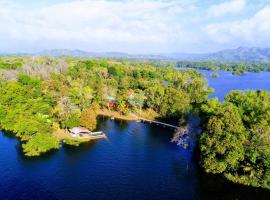
[[37,156],[60,148],[54,136],[58,130],[94,130],[98,109],[179,121],[196,111],[205,171],[270,189],[270,93],[232,91],[219,102],[208,99],[211,92],[194,69],[125,60],[2,57],[0,129],[20,139],[26,156]]

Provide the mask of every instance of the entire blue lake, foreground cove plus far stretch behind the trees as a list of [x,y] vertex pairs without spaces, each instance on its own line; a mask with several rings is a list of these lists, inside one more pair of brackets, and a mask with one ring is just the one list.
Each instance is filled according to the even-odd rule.
[[[212,97],[270,87],[270,73],[219,74],[209,78],[216,89]],[[23,156],[18,140],[1,132],[0,199],[269,199],[268,190],[203,173],[192,149],[171,142],[173,130],[105,118],[98,129],[107,140],[64,146],[38,158]]]

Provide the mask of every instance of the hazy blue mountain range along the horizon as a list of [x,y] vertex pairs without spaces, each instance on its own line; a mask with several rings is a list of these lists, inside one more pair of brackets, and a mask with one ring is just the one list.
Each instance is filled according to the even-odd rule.
[[[21,54],[25,55],[25,54]],[[53,49],[31,55],[75,56],[96,58],[126,59],[160,59],[160,60],[191,60],[191,61],[224,61],[224,62],[270,62],[270,48],[239,47],[208,54],[128,54],[121,52],[88,52],[82,50]]]

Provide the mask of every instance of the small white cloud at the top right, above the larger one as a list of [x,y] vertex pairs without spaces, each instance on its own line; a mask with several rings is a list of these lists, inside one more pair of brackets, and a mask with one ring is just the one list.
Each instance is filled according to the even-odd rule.
[[242,11],[246,7],[246,0],[230,0],[212,5],[208,9],[208,15],[219,17],[225,14],[233,14]]

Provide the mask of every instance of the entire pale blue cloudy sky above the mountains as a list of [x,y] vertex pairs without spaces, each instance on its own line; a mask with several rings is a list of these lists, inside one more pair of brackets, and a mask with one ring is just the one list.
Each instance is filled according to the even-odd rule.
[[270,0],[0,0],[0,52],[270,47]]

